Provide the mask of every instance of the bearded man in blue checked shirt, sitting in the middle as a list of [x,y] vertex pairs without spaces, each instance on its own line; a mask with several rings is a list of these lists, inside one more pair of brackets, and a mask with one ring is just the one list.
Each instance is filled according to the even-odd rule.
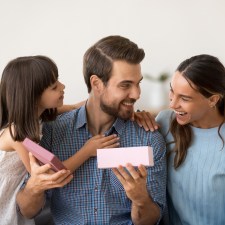
[[[42,145],[66,160],[97,134],[116,134],[120,147],[151,146],[154,166],[98,169],[91,157],[75,171],[73,180],[53,189],[51,210],[56,224],[135,224],[159,222],[165,207],[165,142],[158,131],[146,132],[129,120],[140,97],[143,49],[121,36],[101,39],[84,55],[83,73],[89,98],[81,108],[63,114],[43,128]],[[45,176],[31,158],[33,174],[17,198],[23,215],[32,217],[44,203]],[[58,172],[59,173],[59,172]],[[35,179],[36,178],[36,179]],[[54,178],[54,179],[53,179]],[[56,186],[57,187],[57,186]]]

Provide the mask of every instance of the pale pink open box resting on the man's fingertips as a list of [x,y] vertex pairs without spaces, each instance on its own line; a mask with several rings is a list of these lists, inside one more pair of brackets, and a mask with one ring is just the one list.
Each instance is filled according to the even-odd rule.
[[114,168],[126,166],[153,166],[153,151],[150,146],[126,147],[126,148],[103,148],[97,149],[98,168]]

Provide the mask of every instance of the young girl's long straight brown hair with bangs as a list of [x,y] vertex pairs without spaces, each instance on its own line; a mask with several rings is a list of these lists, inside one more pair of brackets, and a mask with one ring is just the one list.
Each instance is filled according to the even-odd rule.
[[40,140],[40,120],[53,120],[56,109],[38,117],[43,91],[58,80],[56,64],[46,56],[19,57],[10,61],[0,83],[0,130],[9,127],[14,141]]

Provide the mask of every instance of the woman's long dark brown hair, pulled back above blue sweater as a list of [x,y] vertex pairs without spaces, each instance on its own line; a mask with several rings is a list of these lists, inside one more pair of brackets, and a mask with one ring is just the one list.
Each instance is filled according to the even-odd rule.
[[[206,98],[214,94],[221,96],[216,108],[223,117],[225,116],[225,68],[218,58],[211,55],[193,56],[183,61],[176,71]],[[224,143],[219,133],[221,126],[222,124],[219,126],[218,134]],[[175,141],[174,166],[178,168],[184,162],[187,149],[191,145],[192,131],[188,124],[179,125],[176,118],[171,122],[170,131]]]

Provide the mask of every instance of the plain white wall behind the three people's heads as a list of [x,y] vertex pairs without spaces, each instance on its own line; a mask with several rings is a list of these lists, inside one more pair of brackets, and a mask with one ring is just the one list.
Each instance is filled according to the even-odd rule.
[[[157,76],[195,54],[225,63],[224,22],[224,0],[0,0],[0,71],[12,58],[47,55],[74,103],[88,96],[82,57],[98,39],[130,38],[145,49],[142,72]],[[142,90],[137,107],[156,108],[149,81]]]

